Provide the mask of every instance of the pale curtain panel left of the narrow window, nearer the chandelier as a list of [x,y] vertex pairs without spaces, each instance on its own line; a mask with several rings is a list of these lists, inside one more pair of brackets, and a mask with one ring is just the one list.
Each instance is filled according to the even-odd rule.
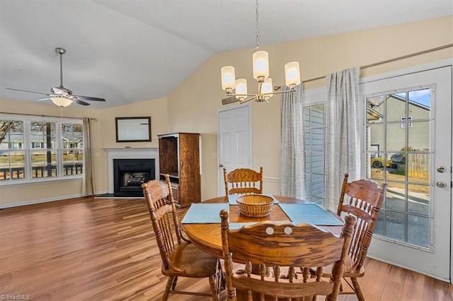
[[302,85],[283,93],[281,102],[280,194],[304,199],[304,120]]

